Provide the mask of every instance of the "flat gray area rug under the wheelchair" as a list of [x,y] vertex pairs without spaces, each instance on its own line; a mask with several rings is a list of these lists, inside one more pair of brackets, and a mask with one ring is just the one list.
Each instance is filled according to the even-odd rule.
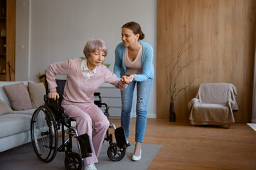
[[[142,145],[142,159],[139,162],[132,161],[132,154],[134,151],[134,143],[127,148],[125,157],[119,162],[112,162],[107,157],[107,148],[109,147],[108,142],[104,142],[102,150],[100,152],[99,162],[95,164],[97,170],[144,170],[149,167],[151,161],[156,156],[157,152],[161,148],[161,145]],[[73,151],[76,151],[75,142],[73,143]],[[54,170],[54,169],[65,169],[64,165],[65,153],[57,152],[55,159],[52,162],[45,163],[41,162],[33,150],[31,143],[10,149],[6,152],[0,153],[0,169],[7,170]]]

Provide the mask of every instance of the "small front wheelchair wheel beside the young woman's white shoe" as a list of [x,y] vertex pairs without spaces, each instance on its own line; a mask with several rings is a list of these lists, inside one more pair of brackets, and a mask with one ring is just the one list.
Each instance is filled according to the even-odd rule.
[[107,157],[114,162],[122,160],[125,156],[126,149],[117,147],[117,143],[112,143],[107,149]]

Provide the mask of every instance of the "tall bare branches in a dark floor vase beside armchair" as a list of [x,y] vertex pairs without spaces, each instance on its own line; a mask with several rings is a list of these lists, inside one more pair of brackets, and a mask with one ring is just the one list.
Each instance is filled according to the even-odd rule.
[[[171,122],[175,122],[176,121],[176,114],[174,111],[174,101],[176,99],[176,96],[183,90],[186,90],[189,86],[191,86],[191,84],[193,83],[193,81],[195,79],[198,79],[198,77],[194,77],[193,80],[190,82],[190,84],[188,84],[187,86],[184,86],[182,88],[178,88],[177,87],[177,79],[180,76],[181,72],[183,71],[183,69],[185,69],[186,67],[188,67],[191,63],[193,62],[198,62],[199,60],[203,60],[201,58],[201,55],[199,55],[199,57],[197,57],[195,60],[188,60],[185,62],[185,64],[180,63],[180,59],[181,56],[183,55],[184,52],[186,52],[187,50],[189,50],[192,45],[191,43],[191,39],[192,39],[193,35],[189,35],[188,39],[185,40],[185,42],[183,42],[182,46],[181,46],[181,50],[178,52],[178,56],[175,57],[174,59],[176,59],[176,62],[174,62],[173,67],[170,67],[169,64],[166,64],[166,62],[164,62],[165,68],[166,68],[166,78],[167,78],[167,83],[169,86],[169,91],[170,91],[170,96],[171,96],[171,103],[170,103],[170,108],[169,108],[169,121]],[[181,66],[180,66],[181,65]],[[176,73],[174,72],[174,69],[177,70]]]

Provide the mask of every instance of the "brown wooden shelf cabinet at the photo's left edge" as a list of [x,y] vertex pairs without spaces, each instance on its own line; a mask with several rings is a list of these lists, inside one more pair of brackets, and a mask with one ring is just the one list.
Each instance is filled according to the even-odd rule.
[[15,0],[0,0],[0,81],[15,81]]

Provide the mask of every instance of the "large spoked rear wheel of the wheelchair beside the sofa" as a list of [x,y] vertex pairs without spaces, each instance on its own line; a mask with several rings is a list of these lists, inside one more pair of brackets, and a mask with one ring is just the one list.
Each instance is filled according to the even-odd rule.
[[51,162],[58,149],[58,129],[55,117],[47,106],[40,106],[31,120],[31,140],[36,155],[43,162]]

